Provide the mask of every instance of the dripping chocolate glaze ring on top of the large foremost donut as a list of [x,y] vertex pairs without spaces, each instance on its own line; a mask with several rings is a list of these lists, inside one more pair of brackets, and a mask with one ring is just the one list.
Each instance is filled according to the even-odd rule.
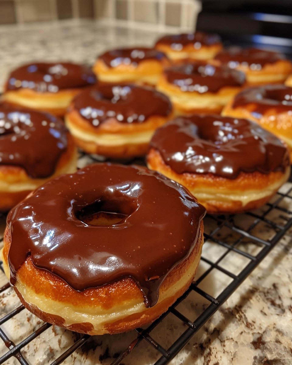
[[[111,226],[77,218],[93,204],[126,218]],[[31,255],[77,291],[131,277],[153,306],[164,278],[193,250],[204,214],[187,190],[144,167],[87,166],[49,181],[9,213],[11,282]]]

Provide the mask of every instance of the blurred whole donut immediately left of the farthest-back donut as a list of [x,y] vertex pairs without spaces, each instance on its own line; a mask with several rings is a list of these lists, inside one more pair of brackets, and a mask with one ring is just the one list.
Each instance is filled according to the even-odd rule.
[[93,71],[104,82],[156,85],[166,66],[169,59],[154,48],[119,48],[101,54]]

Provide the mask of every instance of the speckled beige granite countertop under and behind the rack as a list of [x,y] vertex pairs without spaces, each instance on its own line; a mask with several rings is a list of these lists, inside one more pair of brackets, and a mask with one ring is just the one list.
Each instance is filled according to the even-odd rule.
[[[119,27],[101,27],[96,22],[66,21],[63,23],[44,23],[42,26],[5,26],[0,28],[0,85],[9,70],[32,60],[72,60],[92,64],[95,57],[105,49],[117,46],[152,45],[158,38],[157,32],[128,30]],[[86,164],[87,157],[80,160]],[[292,184],[286,183],[281,191],[285,194]],[[275,199],[275,198],[274,198]],[[274,209],[268,218],[281,224],[283,219],[292,217],[292,194],[281,202],[285,209]],[[263,207],[261,212],[268,209]],[[284,218],[283,218],[283,215]],[[250,224],[250,215],[237,215],[234,222],[244,231]],[[205,230],[212,230],[214,222],[205,219]],[[0,219],[3,231],[5,218]],[[291,365],[292,364],[292,231],[288,231],[277,243],[253,273],[241,284],[230,298],[219,308],[214,316],[188,342],[187,346],[170,362],[179,365]],[[253,234],[262,239],[274,235],[265,222],[253,229]],[[234,233],[226,227],[218,233],[220,240],[230,242]],[[253,253],[258,246],[242,242],[241,249]],[[207,241],[203,255],[214,262],[222,254],[224,247]],[[226,267],[237,274],[247,264],[244,257],[228,254]],[[223,262],[221,262],[223,265]],[[197,277],[206,270],[208,264],[200,262]],[[218,270],[213,269],[200,283],[200,288],[216,296],[228,284],[228,280]],[[0,286],[7,283],[0,272]],[[179,310],[194,320],[207,306],[207,302],[192,293],[180,305]],[[0,295],[0,317],[20,305],[12,288]],[[168,348],[186,329],[175,316],[169,314],[161,326],[151,336]],[[43,322],[27,310],[9,319],[1,329],[15,343],[26,338],[31,331],[42,326]],[[168,334],[165,336],[165,334]],[[33,341],[28,343],[22,354],[33,365],[50,364],[78,338],[78,334],[63,328],[50,326]],[[116,354],[123,351],[137,337],[135,331],[120,335],[93,336],[77,351],[74,351],[64,364],[110,364]],[[145,340],[143,346],[135,347],[122,364],[150,365],[160,355]],[[0,356],[7,347],[0,340]],[[5,364],[19,364],[15,358]]]

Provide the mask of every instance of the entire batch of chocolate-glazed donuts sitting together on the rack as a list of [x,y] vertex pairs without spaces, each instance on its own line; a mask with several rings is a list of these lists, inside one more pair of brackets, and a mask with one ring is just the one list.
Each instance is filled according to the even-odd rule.
[[[5,273],[47,322],[88,334],[152,322],[193,280],[206,210],[260,208],[288,180],[291,133],[292,63],[216,34],[108,50],[92,68],[20,66],[0,104]],[[77,147],[148,169],[75,172]]]

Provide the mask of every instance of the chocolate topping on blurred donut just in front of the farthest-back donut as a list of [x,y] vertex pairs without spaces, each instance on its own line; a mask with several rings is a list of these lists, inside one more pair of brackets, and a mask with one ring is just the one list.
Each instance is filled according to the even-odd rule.
[[167,81],[178,86],[181,91],[200,94],[218,92],[223,87],[241,87],[245,82],[242,72],[199,61],[173,66],[165,70],[164,74]]

